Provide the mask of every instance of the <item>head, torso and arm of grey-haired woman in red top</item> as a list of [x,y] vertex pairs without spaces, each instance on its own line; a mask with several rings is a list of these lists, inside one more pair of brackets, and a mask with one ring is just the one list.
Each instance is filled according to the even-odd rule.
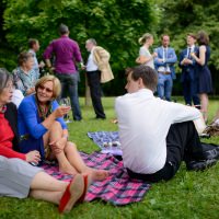
[[18,152],[19,136],[16,129],[16,107],[11,102],[13,95],[12,77],[5,69],[0,69],[0,155],[19,158],[26,162],[38,162],[37,150]]

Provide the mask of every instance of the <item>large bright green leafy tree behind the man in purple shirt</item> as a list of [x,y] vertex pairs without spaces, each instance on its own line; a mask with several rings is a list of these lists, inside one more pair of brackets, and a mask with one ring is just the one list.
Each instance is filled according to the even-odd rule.
[[84,43],[90,37],[111,53],[112,68],[118,79],[110,83],[112,91],[120,90],[124,76],[118,74],[135,64],[138,38],[158,26],[159,18],[153,0],[7,0],[5,3],[4,30],[14,51],[24,49],[27,39],[34,37],[42,45],[42,54],[58,37],[59,24],[65,23],[84,59],[88,55]]

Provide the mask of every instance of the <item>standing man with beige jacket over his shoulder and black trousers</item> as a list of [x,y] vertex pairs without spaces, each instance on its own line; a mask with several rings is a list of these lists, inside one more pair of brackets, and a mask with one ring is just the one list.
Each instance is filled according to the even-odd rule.
[[[111,55],[101,46],[96,46],[96,41],[94,38],[90,38],[85,42],[85,48],[90,53],[85,70],[93,108],[96,114],[96,119],[105,119],[106,115],[101,101],[101,82],[107,82],[113,79],[113,72],[108,64]],[[110,74],[111,79],[102,81],[103,73]]]

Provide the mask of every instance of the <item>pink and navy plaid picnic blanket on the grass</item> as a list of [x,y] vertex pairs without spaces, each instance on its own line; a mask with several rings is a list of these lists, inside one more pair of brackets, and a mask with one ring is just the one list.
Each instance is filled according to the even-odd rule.
[[[123,166],[123,161],[117,160],[112,154],[101,152],[87,154],[81,152],[81,157],[88,166],[110,171],[110,176],[106,180],[92,183],[85,196],[87,201],[101,198],[113,205],[127,205],[140,201],[150,188],[150,184],[138,180],[131,180],[128,176],[126,169]],[[56,164],[43,164],[42,168],[49,175],[61,181],[70,181],[72,177],[71,175],[58,172]]]

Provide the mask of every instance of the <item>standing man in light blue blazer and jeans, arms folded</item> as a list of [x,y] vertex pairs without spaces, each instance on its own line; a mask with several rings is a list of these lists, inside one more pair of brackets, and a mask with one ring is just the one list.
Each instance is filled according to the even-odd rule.
[[173,80],[175,79],[174,64],[177,61],[175,50],[170,45],[170,36],[161,36],[162,46],[155,48],[158,56],[154,58],[158,71],[158,96],[171,101]]

